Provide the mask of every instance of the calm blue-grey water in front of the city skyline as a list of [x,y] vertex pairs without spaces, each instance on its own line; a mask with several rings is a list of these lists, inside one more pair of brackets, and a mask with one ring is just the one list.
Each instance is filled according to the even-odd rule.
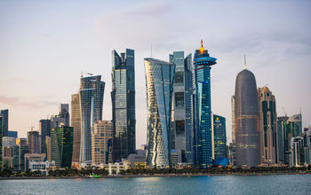
[[311,175],[1,180],[0,194],[311,194]]

